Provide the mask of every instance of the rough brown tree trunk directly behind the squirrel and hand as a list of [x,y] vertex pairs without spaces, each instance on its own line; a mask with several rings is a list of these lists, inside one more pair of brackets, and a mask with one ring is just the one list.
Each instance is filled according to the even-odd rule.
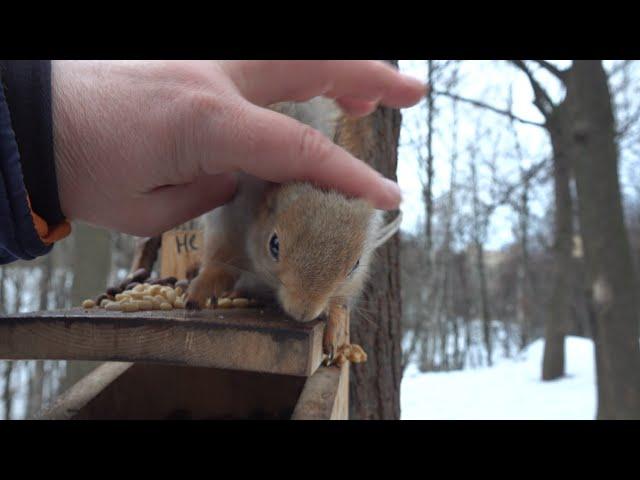
[[[385,177],[396,179],[400,112],[379,108],[362,119],[345,118],[336,142]],[[371,281],[359,307],[374,315],[376,325],[358,313],[351,318],[351,342],[367,352],[364,364],[351,368],[349,418],[400,418],[402,331],[400,327],[400,258],[398,236],[380,247]]]

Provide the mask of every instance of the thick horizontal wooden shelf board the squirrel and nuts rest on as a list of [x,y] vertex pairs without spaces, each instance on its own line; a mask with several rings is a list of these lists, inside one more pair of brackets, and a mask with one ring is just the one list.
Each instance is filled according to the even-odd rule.
[[0,318],[1,359],[171,363],[309,376],[324,322],[269,309],[122,313],[73,309]]

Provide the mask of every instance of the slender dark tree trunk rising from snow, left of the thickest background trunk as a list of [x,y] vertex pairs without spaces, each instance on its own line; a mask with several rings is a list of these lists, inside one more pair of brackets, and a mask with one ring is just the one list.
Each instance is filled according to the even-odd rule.
[[564,337],[571,316],[571,252],[573,249],[573,202],[571,199],[571,118],[566,105],[556,107],[547,121],[553,149],[554,288],[549,314],[545,316],[542,380],[565,374]]

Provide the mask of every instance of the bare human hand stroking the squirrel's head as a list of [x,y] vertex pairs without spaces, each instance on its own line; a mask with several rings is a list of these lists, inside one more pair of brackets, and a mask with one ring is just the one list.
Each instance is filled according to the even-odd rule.
[[230,200],[238,171],[309,180],[397,208],[394,182],[264,107],[324,95],[362,116],[378,104],[411,106],[424,91],[376,61],[54,61],[62,211],[155,235]]

